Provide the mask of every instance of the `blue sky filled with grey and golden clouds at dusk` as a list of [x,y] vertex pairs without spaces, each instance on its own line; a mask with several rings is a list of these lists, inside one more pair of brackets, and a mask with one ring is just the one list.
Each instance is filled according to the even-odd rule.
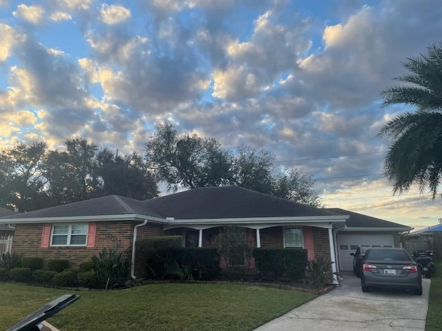
[[442,198],[383,179],[381,108],[441,41],[439,0],[0,0],[0,147],[83,137],[143,152],[158,123],[265,148],[327,207],[438,223]]

